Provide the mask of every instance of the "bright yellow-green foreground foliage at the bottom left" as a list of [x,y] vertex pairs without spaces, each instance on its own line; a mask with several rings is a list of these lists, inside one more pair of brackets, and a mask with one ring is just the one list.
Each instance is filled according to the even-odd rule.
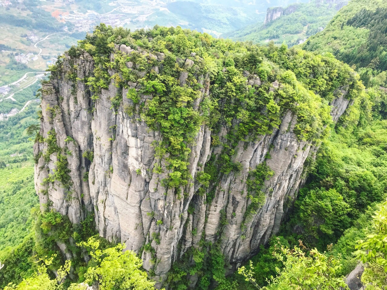
[[147,273],[141,270],[142,260],[133,251],[122,250],[125,244],[101,249],[100,242],[90,238],[87,242],[77,244],[89,249],[91,260],[82,282],[72,283],[65,287],[63,281],[70,273],[71,261],[66,260],[64,266],[57,270],[57,277],[51,278],[48,268],[53,264],[54,254],[50,258],[36,261],[38,270],[30,277],[24,278],[19,285],[9,283],[3,290],[84,290],[86,284],[97,285],[100,290],[153,290],[154,281],[148,280]]

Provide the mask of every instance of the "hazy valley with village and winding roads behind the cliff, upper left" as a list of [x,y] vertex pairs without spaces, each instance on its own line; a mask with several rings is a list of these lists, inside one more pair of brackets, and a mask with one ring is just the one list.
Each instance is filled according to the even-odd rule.
[[[238,9],[243,2],[245,9],[251,10],[249,1],[236,2]],[[191,23],[189,13],[171,12],[173,5],[175,0],[0,0],[0,14],[5,19],[0,20],[0,121],[30,104],[33,96],[18,97],[24,88],[32,88],[34,91],[28,94],[33,95],[38,89],[39,73],[54,65],[64,51],[101,22],[131,30],[155,24],[180,25],[220,35],[217,28],[210,27],[212,24]],[[252,11],[255,13],[255,9]]]

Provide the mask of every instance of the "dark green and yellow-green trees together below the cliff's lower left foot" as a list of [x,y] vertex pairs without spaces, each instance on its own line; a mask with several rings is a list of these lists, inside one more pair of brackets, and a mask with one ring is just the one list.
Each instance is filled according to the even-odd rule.
[[[93,215],[77,225],[54,210],[38,213],[34,228],[36,234],[26,237],[3,259],[0,287],[5,287],[4,290],[83,290],[86,288],[84,283],[97,283],[101,290],[153,290],[155,282],[148,280],[136,254],[123,252],[124,244],[112,246],[98,235],[93,236],[93,222]],[[71,260],[63,260],[57,242],[65,244],[66,251],[73,257]],[[91,256],[88,262],[82,258],[86,253]],[[54,269],[58,275],[51,278]],[[21,282],[6,285],[6,281]]]

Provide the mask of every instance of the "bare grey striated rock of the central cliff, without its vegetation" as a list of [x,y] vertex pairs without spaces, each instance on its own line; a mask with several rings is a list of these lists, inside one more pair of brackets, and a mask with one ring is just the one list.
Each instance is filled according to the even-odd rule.
[[[133,50],[127,46],[120,48],[123,53]],[[164,54],[148,57],[160,60]],[[177,61],[182,67],[178,78],[185,84],[187,70],[194,62]],[[135,69],[134,63],[126,62],[126,67]],[[293,132],[296,116],[288,111],[272,134],[240,141],[232,156],[232,161],[241,165],[240,170],[219,173],[219,180],[199,194],[201,184],[197,176],[212,158],[219,157],[222,147],[217,144],[226,143],[229,133],[228,127],[221,126],[217,136],[213,136],[206,125],[200,126],[188,155],[192,180],[183,194],[175,194],[163,186],[169,172],[166,160],[160,161],[162,170],[155,170],[159,160],[154,143],[161,141],[160,132],[146,125],[140,112],[133,111],[132,99],[126,97],[129,89],[139,90],[140,85],[129,82],[129,88],[120,91],[111,80],[92,102],[89,88],[82,80],[91,76],[93,69],[94,61],[87,53],[77,58],[65,55],[57,75],[43,84],[40,135],[51,140],[51,145],[48,141],[34,145],[35,188],[42,209],[53,208],[68,215],[73,223],[94,211],[99,234],[109,241],[124,242],[126,249],[139,253],[144,268],[154,271],[159,286],[171,264],[190,247],[199,247],[201,240],[217,242],[231,265],[228,273],[257,253],[259,246],[279,230],[305,180],[305,160],[313,158],[318,149],[318,144],[298,140]],[[159,67],[155,65],[152,71],[158,72]],[[70,72],[77,78],[69,77]],[[248,84],[262,84],[257,75],[244,72],[244,76]],[[201,98],[208,96],[208,75],[196,78]],[[275,81],[270,91],[279,87],[281,84]],[[344,101],[346,92],[341,92],[343,99],[332,102],[334,119],[349,103]],[[120,95],[122,101],[116,106],[113,100]],[[140,103],[150,98],[140,95]],[[195,110],[199,110],[199,102],[200,98]],[[217,138],[219,142],[215,142]],[[47,181],[58,171],[58,162],[63,162],[60,154],[50,149],[52,143],[67,152],[70,181],[66,184],[57,179]],[[247,198],[246,181],[249,172],[264,161],[273,174],[262,188],[262,207],[247,219],[245,213],[251,201]],[[154,251],[147,251],[144,245]],[[194,285],[195,277],[191,280]]]

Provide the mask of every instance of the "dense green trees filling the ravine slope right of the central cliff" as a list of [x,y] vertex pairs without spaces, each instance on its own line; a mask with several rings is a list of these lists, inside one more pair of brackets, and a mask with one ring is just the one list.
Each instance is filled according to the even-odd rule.
[[[267,286],[268,289],[288,289],[279,285],[296,283],[292,280],[296,276],[303,277],[300,281],[310,281],[310,277],[303,272],[305,269],[300,266],[308,265],[314,269],[317,263],[313,261],[315,258],[300,254],[297,259],[303,255],[312,259],[303,261],[302,258],[301,261],[288,256],[289,252],[286,252],[289,245],[290,248],[298,246],[299,241],[303,241],[310,249],[317,247],[318,251],[324,251],[328,245],[325,258],[317,250],[313,250],[313,255],[319,257],[318,263],[321,263],[320,259],[340,260],[341,266],[331,272],[334,273],[331,279],[347,275],[355,268],[360,256],[356,258],[353,253],[363,243],[357,241],[370,238],[367,234],[372,225],[379,225],[379,216],[375,216],[374,211],[385,200],[387,192],[387,123],[382,118],[385,111],[380,109],[379,103],[384,99],[384,91],[378,91],[377,88],[378,84],[370,87],[368,94],[362,95],[351,107],[350,113],[341,118],[330,137],[323,140],[315,162],[308,169],[307,184],[300,190],[289,220],[283,223],[278,233],[279,237],[272,237],[268,247],[262,248],[252,259],[252,264],[243,268],[249,281],[255,279],[255,283],[262,287],[267,285],[264,279],[272,275],[274,278],[271,279],[272,284]],[[374,240],[371,245],[375,246],[375,251],[381,249],[378,241]],[[279,251],[281,246],[286,250],[282,254]],[[274,256],[273,252],[276,253]],[[288,263],[289,258],[291,263]],[[378,260],[373,264],[373,270],[365,272],[364,281],[377,281],[375,275],[385,277],[384,269],[380,268],[383,263]],[[285,270],[278,271],[276,267]],[[326,274],[320,273],[319,277],[323,278]],[[383,279],[378,281],[385,283]],[[232,276],[231,281],[237,281],[241,289],[254,288],[250,282],[240,281],[239,276]],[[310,283],[315,285],[313,289],[328,285],[327,282],[313,279]],[[318,286],[319,283],[322,284]],[[294,289],[297,289],[296,285]],[[339,287],[339,284],[334,287]]]

